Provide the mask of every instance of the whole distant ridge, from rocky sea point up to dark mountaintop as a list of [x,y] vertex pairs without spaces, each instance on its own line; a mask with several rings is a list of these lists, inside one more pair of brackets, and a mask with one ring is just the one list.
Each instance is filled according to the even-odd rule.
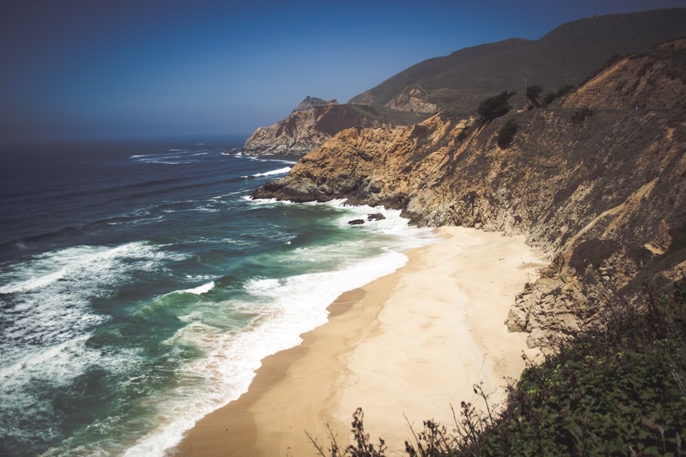
[[[539,40],[510,38],[419,62],[338,104],[307,97],[283,121],[259,127],[245,153],[304,154],[349,127],[419,123],[437,112],[475,112],[484,97],[528,84],[577,86],[613,55],[686,34],[686,8],[610,14],[556,27]],[[332,103],[333,102],[333,103]]]

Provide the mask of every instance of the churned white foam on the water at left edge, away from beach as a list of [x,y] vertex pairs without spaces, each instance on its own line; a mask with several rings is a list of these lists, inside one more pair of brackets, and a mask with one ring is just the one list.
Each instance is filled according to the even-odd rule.
[[[167,260],[178,258],[182,255],[142,242],[78,246],[34,256],[7,271],[3,279],[9,284],[2,290],[10,296],[3,297],[0,307],[0,404],[5,417],[45,419],[53,414],[51,399],[36,391],[42,383],[49,388],[71,386],[93,369],[114,375],[136,371],[146,360],[143,349],[103,349],[88,343],[95,328],[110,319],[91,303],[94,297],[117,291],[135,271],[163,269]],[[212,286],[205,283],[189,292],[205,293]],[[19,424],[5,423],[1,433],[23,436]],[[58,434],[40,432],[44,439]],[[93,449],[83,454],[93,455]]]

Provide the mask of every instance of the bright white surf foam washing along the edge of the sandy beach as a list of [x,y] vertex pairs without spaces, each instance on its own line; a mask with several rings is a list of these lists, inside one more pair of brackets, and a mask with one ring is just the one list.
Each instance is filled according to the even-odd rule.
[[[371,210],[380,212],[379,208],[351,208],[344,212],[342,219],[367,214]],[[296,252],[294,255],[302,255],[303,258],[313,254],[331,255],[341,260],[347,256],[348,261],[339,262],[338,268],[320,273],[282,279],[253,277],[248,280],[244,291],[255,297],[249,302],[249,310],[246,309],[246,312],[255,315],[248,329],[226,332],[208,321],[206,314],[191,313],[185,316],[182,321],[187,325],[178,330],[168,343],[194,345],[205,356],[180,369],[180,384],[173,394],[158,404],[158,427],[139,439],[125,455],[164,455],[165,449],[176,445],[183,432],[198,419],[247,391],[264,357],[300,344],[300,334],[326,323],[327,306],[341,293],[392,273],[407,260],[401,252],[403,249],[425,245],[434,239],[430,231],[407,227],[407,221],[399,217],[399,212],[384,212],[389,220],[375,227],[370,223],[369,227],[373,228],[369,230],[400,236],[401,240],[395,249],[364,258],[351,256],[351,249],[364,249],[364,244],[356,247],[353,243],[316,247],[312,248],[313,251]],[[405,231],[407,236],[404,235]],[[231,302],[222,308],[240,310],[241,306],[245,305]]]

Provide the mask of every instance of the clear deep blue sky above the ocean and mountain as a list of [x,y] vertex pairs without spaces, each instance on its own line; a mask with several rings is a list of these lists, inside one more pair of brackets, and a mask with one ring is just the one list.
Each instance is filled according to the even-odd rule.
[[249,134],[422,60],[684,0],[9,0],[0,142]]

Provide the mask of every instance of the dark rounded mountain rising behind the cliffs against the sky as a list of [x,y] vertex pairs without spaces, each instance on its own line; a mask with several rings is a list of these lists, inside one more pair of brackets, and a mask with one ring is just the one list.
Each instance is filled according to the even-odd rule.
[[685,34],[686,8],[580,19],[560,25],[540,40],[512,38],[425,60],[348,103],[469,112],[488,95],[506,89],[522,94],[525,75],[528,85],[540,85],[546,92],[577,86],[613,55]]

